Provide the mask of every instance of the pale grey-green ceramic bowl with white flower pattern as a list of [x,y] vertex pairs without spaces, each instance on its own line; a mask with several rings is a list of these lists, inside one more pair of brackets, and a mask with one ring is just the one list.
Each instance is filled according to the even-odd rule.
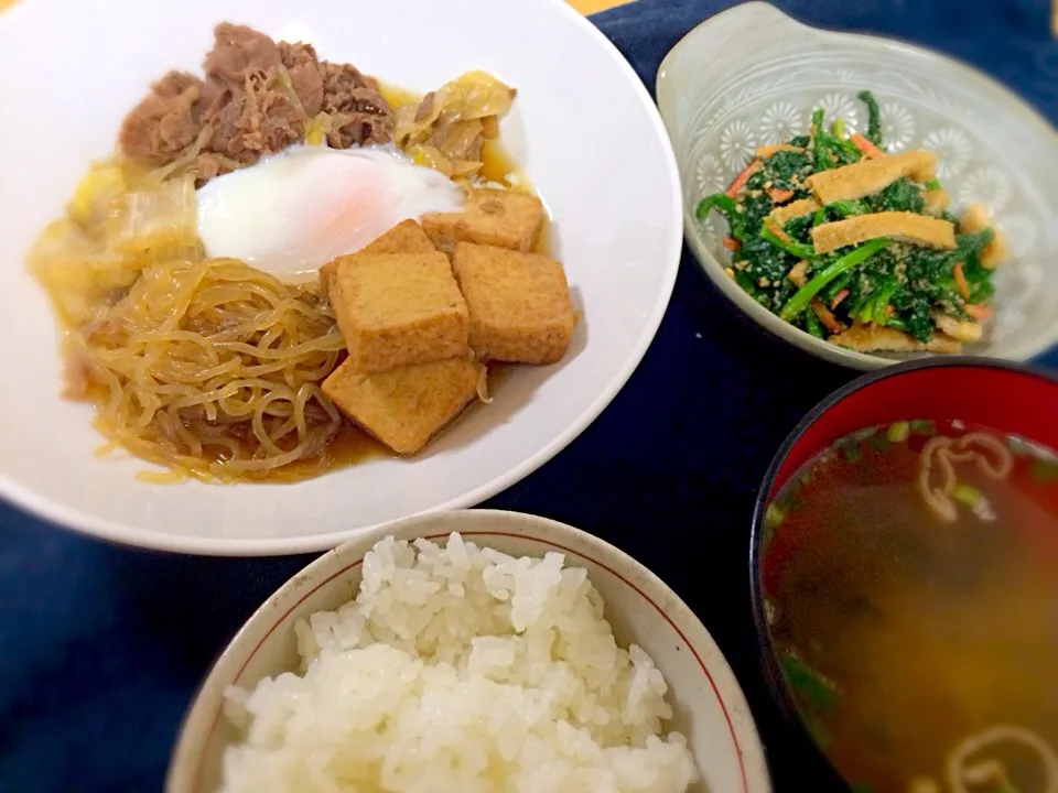
[[[822,107],[846,129],[865,127],[856,94],[882,107],[890,150],[928,149],[959,211],[987,205],[1011,260],[996,274],[995,322],[973,355],[1024,360],[1058,340],[1058,133],[1000,85],[946,57],[884,39],[805,26],[749,2],[692,30],[658,72],[658,105],[679,161],[688,242],[702,269],[746,314],[813,355],[856,369],[897,356],[817,339],[754,302],[724,273],[726,225],[694,207],[724,189],[757,145],[808,131]],[[904,358],[908,356],[903,356]]]

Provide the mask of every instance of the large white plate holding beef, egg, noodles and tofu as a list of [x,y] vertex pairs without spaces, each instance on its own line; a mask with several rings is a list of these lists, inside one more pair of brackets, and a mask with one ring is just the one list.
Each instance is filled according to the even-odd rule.
[[[298,485],[150,485],[100,461],[88,405],[60,399],[58,332],[23,257],[123,115],[166,69],[198,69],[230,20],[314,43],[388,84],[429,90],[472,69],[518,89],[503,142],[541,194],[583,311],[559,365],[522,367],[411,460],[378,458]],[[546,42],[547,45],[541,45]],[[44,43],[42,45],[42,43]],[[681,248],[679,178],[638,77],[561,0],[29,0],[0,17],[0,497],[137,545],[210,554],[333,547],[369,526],[476,503],[581,433],[654,338]],[[14,155],[15,152],[23,152]]]

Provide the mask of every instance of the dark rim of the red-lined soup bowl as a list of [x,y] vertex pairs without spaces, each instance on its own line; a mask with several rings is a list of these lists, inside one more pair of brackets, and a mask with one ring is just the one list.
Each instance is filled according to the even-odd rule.
[[771,642],[771,634],[768,630],[767,615],[765,613],[765,598],[762,588],[759,568],[762,561],[764,543],[764,517],[770,502],[771,489],[775,480],[786,461],[787,456],[794,446],[801,439],[801,436],[816,424],[819,419],[831,408],[843,402],[854,393],[870,389],[890,378],[899,378],[922,369],[950,369],[950,368],[974,368],[974,369],[997,369],[1007,372],[1018,372],[1044,380],[1052,385],[1058,385],[1058,372],[1037,365],[1023,363],[1019,361],[1007,361],[997,358],[979,358],[975,356],[951,356],[946,358],[925,358],[910,361],[898,362],[895,366],[878,369],[876,371],[862,374],[852,382],[842,385],[812,408],[803,419],[801,419],[789,435],[786,436],[779,446],[771,461],[768,464],[767,472],[757,490],[757,497],[753,507],[753,521],[749,529],[749,600],[753,610],[753,633],[754,642],[757,648],[757,655],[760,660],[760,671],[767,683],[768,692],[771,695],[771,704],[778,709],[782,721],[796,736],[796,740],[809,747],[818,761],[829,770],[833,784],[842,785],[843,790],[852,791],[852,785],[841,775],[841,773],[830,762],[830,758],[819,747],[808,730],[808,726],[801,718],[800,713],[794,702],[779,669],[778,660],[775,656],[775,645]]

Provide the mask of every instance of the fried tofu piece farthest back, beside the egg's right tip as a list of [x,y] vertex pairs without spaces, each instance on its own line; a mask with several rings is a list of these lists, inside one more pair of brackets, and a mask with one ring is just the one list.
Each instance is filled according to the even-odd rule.
[[540,199],[508,189],[471,189],[463,211],[422,216],[423,231],[443,251],[453,250],[461,240],[530,251],[540,239],[542,227]]

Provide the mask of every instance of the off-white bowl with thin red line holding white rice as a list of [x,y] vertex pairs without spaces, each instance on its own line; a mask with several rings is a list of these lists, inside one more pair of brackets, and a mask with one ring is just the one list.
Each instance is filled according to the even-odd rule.
[[320,557],[253,613],[209,672],[181,728],[165,783],[168,793],[208,793],[219,781],[224,749],[238,739],[222,714],[229,685],[252,687],[266,676],[298,669],[294,623],[356,596],[364,554],[380,539],[430,537],[452,532],[479,546],[516,556],[566,555],[584,567],[606,602],[617,641],[639,644],[669,685],[676,715],[666,729],[688,737],[702,773],[695,790],[767,793],[771,790],[760,739],[745,696],[705,628],[660,578],[617,548],[544,518],[468,510],[420,515],[361,534]]

